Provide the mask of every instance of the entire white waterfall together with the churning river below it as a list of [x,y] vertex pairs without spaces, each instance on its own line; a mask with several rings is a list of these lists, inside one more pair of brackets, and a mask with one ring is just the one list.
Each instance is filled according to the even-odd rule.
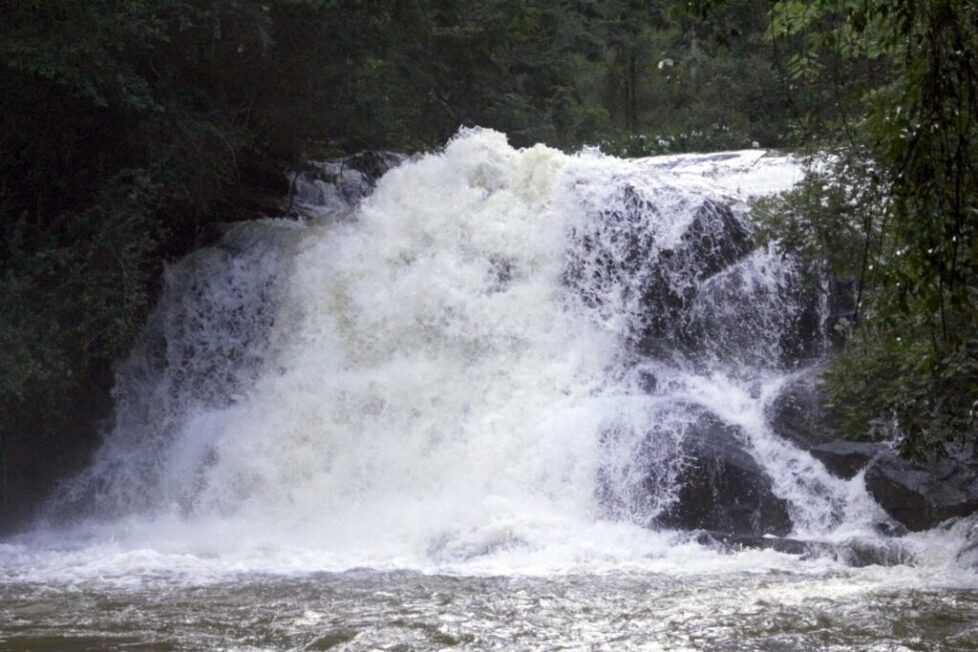
[[[855,567],[888,517],[772,427],[829,307],[728,249],[802,175],[464,130],[363,198],[297,177],[167,270],[103,446],[0,541],[0,648],[978,649],[967,524]],[[823,547],[664,524],[706,418]]]

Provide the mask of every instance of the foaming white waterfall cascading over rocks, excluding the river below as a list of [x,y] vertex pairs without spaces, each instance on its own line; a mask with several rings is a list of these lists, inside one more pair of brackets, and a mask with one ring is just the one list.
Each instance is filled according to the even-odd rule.
[[800,176],[763,152],[622,161],[471,130],[354,208],[240,226],[170,270],[115,428],[51,514],[338,567],[641,558],[706,411],[796,533],[869,532],[860,481],[766,422],[798,367],[796,270],[724,249],[747,196]]

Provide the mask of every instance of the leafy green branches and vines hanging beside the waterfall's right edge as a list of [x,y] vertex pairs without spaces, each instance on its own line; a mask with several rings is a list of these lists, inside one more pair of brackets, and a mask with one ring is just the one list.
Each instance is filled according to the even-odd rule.
[[[859,269],[862,319],[826,377],[836,410],[853,436],[891,424],[908,454],[974,445],[978,5],[779,2],[769,32],[796,50],[792,78],[836,98],[835,119],[816,124],[850,162],[828,184],[810,179],[769,220],[783,246]],[[794,210],[805,194],[813,201]],[[819,202],[837,214],[810,210]],[[861,251],[832,244],[851,233]]]

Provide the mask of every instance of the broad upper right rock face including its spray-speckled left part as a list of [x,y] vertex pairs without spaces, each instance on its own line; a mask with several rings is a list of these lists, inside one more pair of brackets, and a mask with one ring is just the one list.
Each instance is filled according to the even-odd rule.
[[655,228],[660,210],[641,189],[622,186],[575,232],[565,272],[598,314],[625,305],[631,352],[778,368],[822,353],[819,286],[791,265],[752,256],[749,229],[729,205],[700,199],[683,207],[689,221],[668,243]]

